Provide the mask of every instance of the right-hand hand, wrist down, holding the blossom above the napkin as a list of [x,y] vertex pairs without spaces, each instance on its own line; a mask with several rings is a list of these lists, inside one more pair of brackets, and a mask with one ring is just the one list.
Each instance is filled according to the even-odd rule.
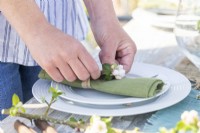
[[118,63],[126,72],[131,69],[136,45],[118,22],[102,23],[93,28],[95,38],[101,48],[99,57],[102,63]]

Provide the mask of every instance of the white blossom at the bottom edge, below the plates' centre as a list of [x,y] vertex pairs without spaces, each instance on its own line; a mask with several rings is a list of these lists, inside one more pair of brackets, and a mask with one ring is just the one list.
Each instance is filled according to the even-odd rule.
[[86,128],[85,133],[107,133],[107,131],[106,123],[96,119]]

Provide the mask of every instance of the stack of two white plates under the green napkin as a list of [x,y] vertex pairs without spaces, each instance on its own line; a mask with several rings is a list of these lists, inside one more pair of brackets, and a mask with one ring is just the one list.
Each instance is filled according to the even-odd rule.
[[[58,111],[99,116],[137,115],[160,110],[183,100],[191,90],[191,84],[182,74],[161,66],[134,63],[130,78],[156,77],[165,83],[162,91],[151,98],[134,98],[112,95],[92,89],[72,88],[48,80],[38,80],[33,86],[33,95],[42,102],[51,99],[49,87],[58,87],[62,92],[52,108]],[[122,88],[123,89],[123,88]]]

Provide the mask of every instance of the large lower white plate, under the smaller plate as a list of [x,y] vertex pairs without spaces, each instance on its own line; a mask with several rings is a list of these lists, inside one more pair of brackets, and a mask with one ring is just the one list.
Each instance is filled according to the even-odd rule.
[[[163,74],[168,77],[170,83],[170,89],[161,95],[160,97],[154,99],[150,103],[141,104],[141,105],[113,105],[113,106],[94,106],[88,104],[77,104],[71,101],[65,101],[62,99],[57,99],[55,103],[52,104],[51,108],[80,115],[98,115],[98,116],[126,116],[126,115],[137,115],[148,112],[153,112],[160,110],[169,106],[172,106],[181,100],[183,100],[191,90],[191,84],[189,80],[182,74],[156,65],[144,64],[144,63],[134,63],[132,70],[137,73],[140,72],[140,75],[145,75],[146,73]],[[48,92],[51,85],[50,81],[47,80],[38,80],[32,89],[33,96],[39,101],[42,102],[42,98],[45,98],[47,101],[50,101],[51,94]]]

